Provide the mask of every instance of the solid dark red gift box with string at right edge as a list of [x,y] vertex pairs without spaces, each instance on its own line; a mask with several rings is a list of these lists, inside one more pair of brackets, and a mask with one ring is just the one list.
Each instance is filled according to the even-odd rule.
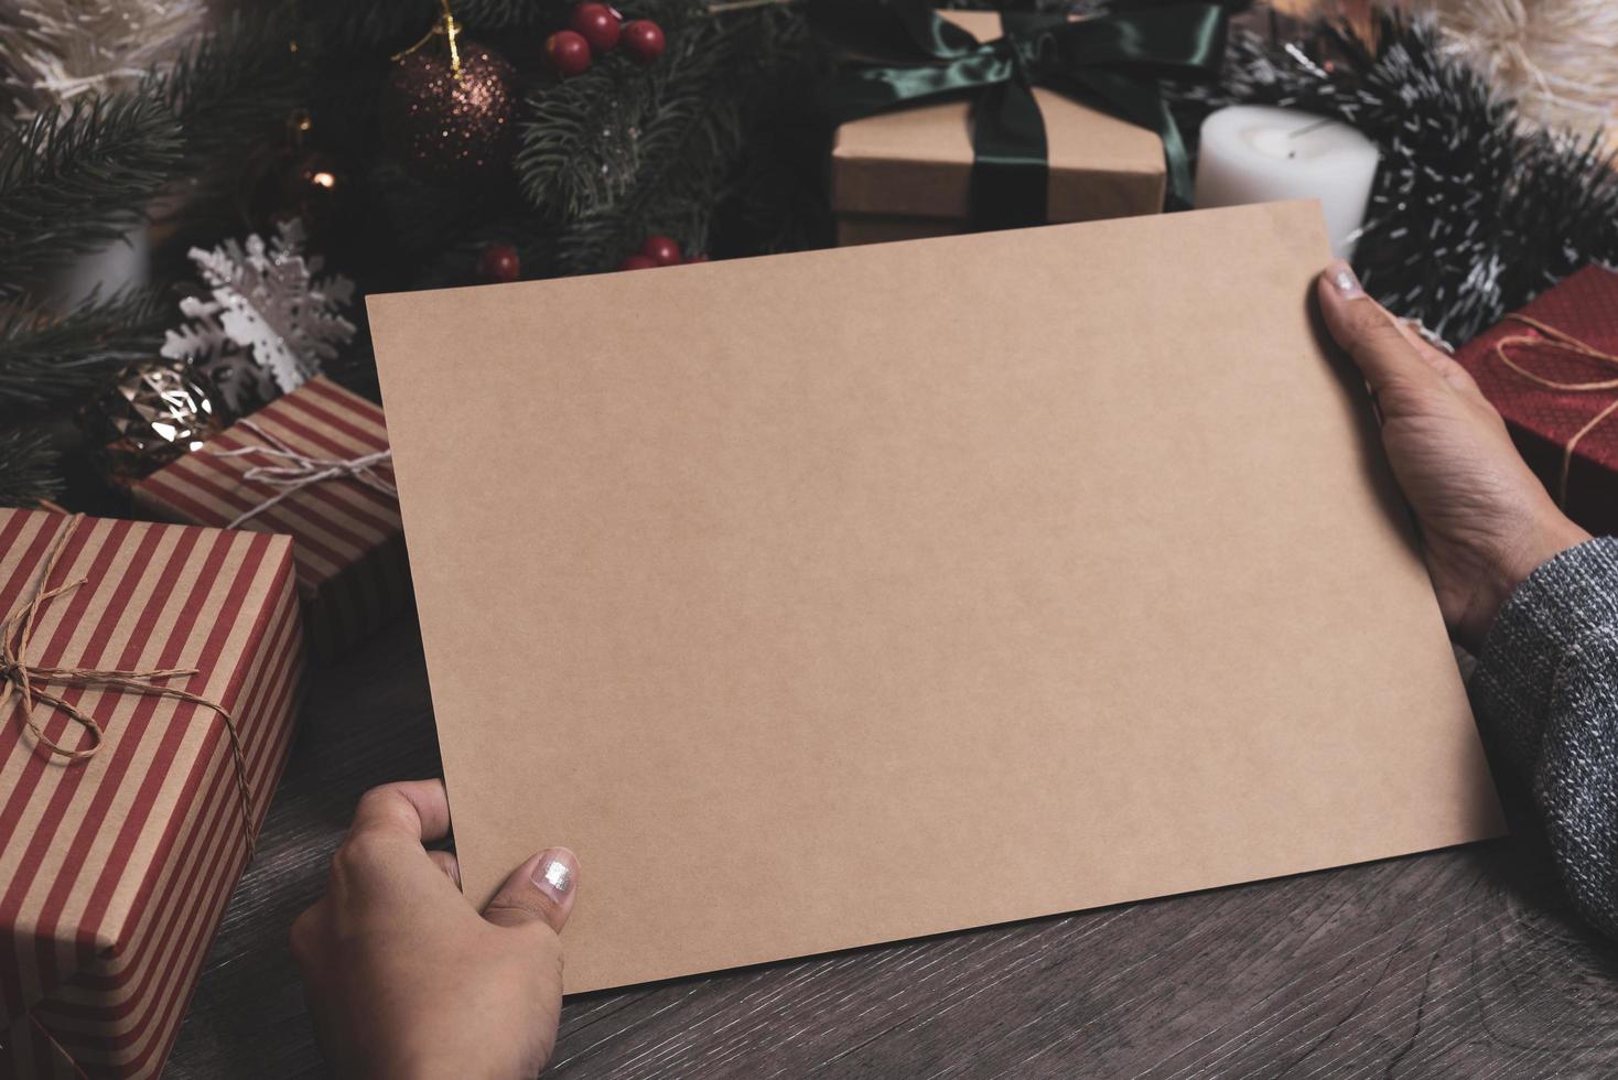
[[1618,532],[1618,273],[1579,270],[1455,359],[1563,511]]

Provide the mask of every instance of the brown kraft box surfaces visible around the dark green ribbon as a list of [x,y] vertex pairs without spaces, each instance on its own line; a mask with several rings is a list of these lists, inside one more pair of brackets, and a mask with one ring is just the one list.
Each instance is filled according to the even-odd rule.
[[[993,11],[940,11],[979,40],[1000,37]],[[1045,220],[1094,221],[1163,209],[1163,142],[1147,129],[1034,87],[1050,155]],[[968,230],[971,103],[919,105],[848,121],[832,147],[838,246]]]

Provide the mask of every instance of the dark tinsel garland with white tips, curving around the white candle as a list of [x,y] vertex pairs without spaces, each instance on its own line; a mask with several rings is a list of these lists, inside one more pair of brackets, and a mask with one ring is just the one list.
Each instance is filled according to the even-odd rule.
[[1178,91],[1176,112],[1194,131],[1214,108],[1281,105],[1375,141],[1354,268],[1390,310],[1451,341],[1589,262],[1618,262],[1618,171],[1600,139],[1524,126],[1482,74],[1438,53],[1430,21],[1382,16],[1377,39],[1372,53],[1330,26],[1301,42],[1233,34],[1223,79]]

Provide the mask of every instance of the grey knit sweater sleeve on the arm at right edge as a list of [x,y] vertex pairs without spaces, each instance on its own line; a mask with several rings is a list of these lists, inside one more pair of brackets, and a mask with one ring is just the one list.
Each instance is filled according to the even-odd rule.
[[1471,690],[1532,786],[1573,902],[1618,936],[1618,538],[1563,551],[1511,593]]

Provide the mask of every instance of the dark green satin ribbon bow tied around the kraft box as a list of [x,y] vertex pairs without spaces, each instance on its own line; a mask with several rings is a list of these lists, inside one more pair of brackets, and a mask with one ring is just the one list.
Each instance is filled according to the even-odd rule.
[[971,97],[972,228],[1045,221],[1050,162],[1032,87],[1095,103],[1163,141],[1168,209],[1191,205],[1191,165],[1160,78],[1209,81],[1225,57],[1226,11],[1217,3],[1137,6],[1068,21],[1002,13],[1005,37],[979,42],[925,0],[811,0],[809,21],[870,58],[827,87],[824,105],[846,123],[935,100]]

